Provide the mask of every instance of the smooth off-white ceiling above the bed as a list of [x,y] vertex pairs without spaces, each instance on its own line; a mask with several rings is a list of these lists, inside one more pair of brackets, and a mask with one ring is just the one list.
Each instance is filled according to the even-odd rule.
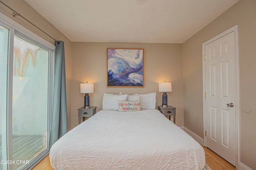
[[25,0],[72,42],[183,43],[238,0]]

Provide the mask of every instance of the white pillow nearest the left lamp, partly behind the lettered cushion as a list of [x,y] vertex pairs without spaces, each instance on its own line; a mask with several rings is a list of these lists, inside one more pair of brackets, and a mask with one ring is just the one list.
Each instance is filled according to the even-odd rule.
[[118,101],[126,101],[127,95],[113,95],[104,93],[102,101],[102,109],[118,111]]

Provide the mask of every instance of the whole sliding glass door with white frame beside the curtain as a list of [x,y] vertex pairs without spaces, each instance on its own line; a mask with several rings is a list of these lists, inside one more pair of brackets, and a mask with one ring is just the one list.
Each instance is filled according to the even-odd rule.
[[54,50],[6,26],[0,22],[0,170],[28,169],[49,151]]

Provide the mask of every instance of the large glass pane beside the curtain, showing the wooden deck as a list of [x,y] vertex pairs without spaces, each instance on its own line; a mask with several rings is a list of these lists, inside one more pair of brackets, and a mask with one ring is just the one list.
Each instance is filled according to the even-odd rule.
[[12,156],[19,169],[48,148],[49,51],[14,36]]

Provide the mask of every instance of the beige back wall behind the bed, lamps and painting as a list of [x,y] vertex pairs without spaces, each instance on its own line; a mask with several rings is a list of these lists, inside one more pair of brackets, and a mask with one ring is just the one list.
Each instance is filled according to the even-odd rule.
[[[144,49],[144,87],[106,87],[107,48]],[[90,93],[90,106],[102,109],[103,93],[146,94],[156,92],[157,105],[162,105],[162,93],[158,83],[172,82],[172,92],[168,93],[168,105],[177,108],[176,125],[183,126],[183,80],[181,44],[161,43],[72,43],[72,115],[71,127],[78,125],[77,109],[84,106],[84,94],[80,93],[80,83],[94,83],[94,93]]]

